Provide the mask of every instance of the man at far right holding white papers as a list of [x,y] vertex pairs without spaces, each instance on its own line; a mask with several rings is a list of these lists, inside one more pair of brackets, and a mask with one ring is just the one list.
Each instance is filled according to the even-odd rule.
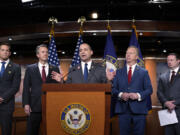
[[159,78],[157,96],[163,108],[169,112],[175,110],[178,123],[165,126],[165,135],[180,135],[180,68],[179,56],[171,53],[167,56],[169,71]]

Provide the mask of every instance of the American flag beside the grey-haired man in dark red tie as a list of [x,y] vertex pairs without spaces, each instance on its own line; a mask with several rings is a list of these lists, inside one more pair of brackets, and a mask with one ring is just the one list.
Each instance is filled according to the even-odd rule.
[[53,36],[51,36],[51,40],[49,43],[49,48],[48,48],[48,63],[53,65],[53,66],[59,66],[59,58],[58,58],[58,54],[57,54],[57,50],[56,50],[56,43],[55,43],[55,39]]

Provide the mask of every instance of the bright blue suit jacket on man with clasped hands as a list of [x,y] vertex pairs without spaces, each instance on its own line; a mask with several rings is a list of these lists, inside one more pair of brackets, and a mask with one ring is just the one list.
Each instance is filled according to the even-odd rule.
[[[123,101],[118,97],[120,92],[139,93],[142,100]],[[134,114],[147,114],[147,96],[151,94],[152,86],[147,70],[136,66],[129,84],[127,67],[117,70],[112,88],[112,95],[116,98],[115,113],[126,113],[130,109]]]

